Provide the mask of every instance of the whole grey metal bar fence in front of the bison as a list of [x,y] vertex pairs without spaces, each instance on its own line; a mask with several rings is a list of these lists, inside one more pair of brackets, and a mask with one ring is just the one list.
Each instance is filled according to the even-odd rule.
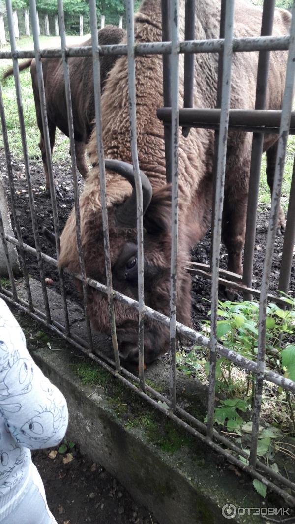
[[[9,33],[11,42],[11,52],[0,52],[0,59],[12,58],[14,77],[16,85],[16,97],[19,111],[19,124],[22,134],[22,144],[24,153],[24,163],[26,171],[26,180],[28,185],[29,205],[32,218],[32,226],[34,228],[36,248],[32,248],[24,244],[21,237],[21,228],[17,217],[17,204],[14,192],[14,178],[12,171],[12,164],[9,154],[9,145],[6,132],[6,122],[4,113],[4,104],[2,98],[2,91],[0,88],[0,110],[3,135],[5,141],[5,153],[7,160],[7,170],[9,176],[10,191],[12,197],[12,211],[14,216],[14,223],[16,226],[17,238],[6,235],[2,216],[0,215],[0,231],[3,244],[6,250],[7,266],[10,276],[12,291],[4,288],[0,289],[0,296],[8,302],[14,303],[17,308],[27,312],[38,320],[43,325],[49,326],[51,330],[61,335],[65,340],[71,342],[78,347],[82,352],[90,356],[97,363],[103,366],[111,374],[113,374],[124,385],[135,391],[141,398],[149,402],[155,409],[161,411],[171,420],[185,428],[196,439],[199,439],[203,444],[209,445],[211,449],[217,453],[225,456],[231,463],[235,464],[243,471],[248,472],[254,478],[266,484],[271,490],[282,496],[289,505],[295,505],[295,499],[285,488],[295,490],[295,485],[287,478],[272,470],[263,462],[257,460],[257,442],[260,421],[261,408],[261,391],[265,380],[272,384],[282,387],[286,391],[295,393],[295,383],[278,373],[266,368],[265,365],[265,331],[266,331],[266,307],[269,300],[269,282],[271,275],[271,261],[274,254],[274,243],[276,236],[276,226],[279,214],[279,199],[281,192],[282,176],[284,161],[286,155],[287,137],[289,128],[294,132],[294,118],[291,118],[291,105],[293,97],[293,84],[295,72],[295,2],[292,8],[292,22],[290,36],[272,37],[271,26],[274,15],[275,2],[272,0],[265,0],[263,10],[263,25],[261,27],[260,37],[249,38],[234,38],[233,37],[233,17],[234,17],[234,0],[223,0],[221,12],[221,28],[220,38],[213,40],[195,40],[194,36],[194,1],[188,0],[186,4],[186,24],[185,24],[185,41],[179,41],[179,1],[178,0],[162,0],[162,14],[163,14],[163,42],[149,42],[149,43],[135,43],[134,40],[134,8],[133,0],[126,0],[126,20],[128,40],[126,45],[118,46],[99,46],[97,37],[97,18],[95,0],[90,0],[90,19],[91,19],[91,33],[92,33],[92,47],[81,48],[67,48],[65,45],[65,28],[62,0],[58,0],[58,16],[59,27],[61,35],[61,50],[47,49],[40,50],[39,37],[37,28],[37,12],[35,0],[30,0],[30,11],[32,15],[32,29],[34,34],[34,47],[32,51],[18,51],[16,49],[16,42],[14,37],[14,24],[12,6],[7,0],[7,16],[9,22]],[[285,94],[283,95],[283,103],[281,111],[266,111],[266,87],[268,77],[268,59],[270,50],[288,50],[287,74],[285,84]],[[255,110],[235,111],[230,110],[230,94],[231,94],[231,66],[233,61],[233,54],[242,51],[259,51],[259,71],[257,78],[257,96]],[[218,93],[215,109],[203,109],[192,107],[192,77],[194,67],[194,53],[219,53],[219,74],[218,74]],[[137,258],[138,258],[138,301],[125,296],[122,293],[115,291],[112,287],[112,268],[110,258],[110,238],[108,236],[108,218],[106,208],[106,178],[105,169],[112,168],[109,160],[104,160],[104,149],[102,143],[102,121],[101,121],[101,93],[100,93],[100,62],[99,56],[104,54],[118,54],[126,55],[128,60],[128,89],[129,89],[129,119],[131,129],[131,149],[132,161],[135,176],[136,200],[137,200]],[[180,53],[185,53],[185,88],[184,88],[184,108],[179,110],[179,56]],[[172,184],[172,198],[171,198],[171,271],[170,271],[170,316],[166,316],[160,312],[153,310],[145,305],[144,295],[144,252],[143,252],[143,191],[141,188],[141,172],[139,169],[138,154],[137,154],[137,137],[136,137],[136,91],[135,91],[135,57],[143,55],[162,54],[163,57],[163,105],[165,107],[159,108],[158,116],[165,123],[165,146],[166,146],[166,173],[167,182]],[[56,200],[56,192],[54,188],[54,180],[52,173],[52,163],[50,154],[50,141],[48,134],[47,114],[45,90],[43,85],[41,57],[62,57],[65,93],[67,97],[68,123],[70,129],[70,144],[71,144],[71,158],[72,158],[72,173],[74,182],[75,194],[75,220],[77,231],[77,245],[79,250],[80,274],[75,275],[82,283],[83,288],[83,303],[86,318],[86,325],[88,326],[88,341],[82,341],[78,336],[71,333],[67,297],[64,290],[64,274],[61,269],[59,271],[60,285],[61,285],[61,303],[64,312],[65,323],[53,321],[51,319],[49,301],[47,296],[47,288],[45,285],[45,275],[43,271],[43,261],[47,261],[54,268],[57,268],[57,260],[49,257],[41,252],[40,238],[38,234],[36,222],[36,209],[34,204],[34,193],[31,187],[30,179],[30,164],[26,145],[26,129],[24,124],[23,106],[21,102],[21,88],[18,71],[18,59],[35,57],[38,74],[38,86],[41,100],[42,122],[45,130],[46,154],[48,159],[48,172],[50,178],[50,190],[52,200],[52,216],[54,223],[54,234],[56,239],[57,254],[60,254],[60,237],[58,224],[58,208]],[[74,147],[74,133],[73,133],[73,116],[71,110],[71,89],[68,57],[75,56],[93,56],[93,75],[94,75],[94,92],[95,92],[95,114],[96,114],[96,137],[97,137],[97,151],[99,152],[99,169],[100,169],[100,190],[101,203],[103,213],[103,230],[104,230],[104,248],[105,248],[105,271],[106,271],[106,285],[97,282],[86,275],[85,264],[81,243],[80,231],[80,215],[79,215],[79,192],[78,192],[78,177],[75,159]],[[205,127],[216,129],[215,143],[215,187],[214,195],[215,201],[213,206],[213,235],[212,235],[212,262],[210,266],[191,265],[188,263],[188,269],[202,276],[206,276],[212,280],[212,295],[211,295],[211,336],[206,337],[201,333],[188,328],[185,325],[176,321],[177,314],[177,245],[178,245],[178,158],[179,158],[179,127],[183,126],[183,133],[188,134],[190,127]],[[223,211],[223,193],[225,184],[225,167],[226,167],[226,148],[227,148],[227,132],[228,129],[247,130],[254,133],[253,138],[253,159],[252,162],[250,184],[251,190],[249,192],[249,211],[247,220],[247,234],[246,234],[246,248],[245,260],[248,264],[245,265],[243,281],[239,275],[231,275],[229,272],[220,270],[220,245],[221,245],[221,224]],[[267,236],[266,255],[264,263],[264,271],[262,277],[261,290],[253,290],[251,288],[252,282],[252,264],[254,256],[254,237],[256,224],[256,210],[257,210],[257,194],[260,163],[257,161],[261,157],[262,141],[265,133],[277,133],[278,138],[278,153],[276,161],[276,171],[273,189],[272,205],[269,214],[269,227]],[[283,245],[282,266],[279,281],[279,289],[287,292],[290,280],[292,250],[294,243],[294,228],[295,228],[295,176],[293,174],[292,187],[289,200],[288,216],[285,241]],[[97,189],[99,191],[99,189]],[[22,269],[26,282],[27,301],[20,299],[17,295],[17,288],[13,277],[12,268],[9,263],[8,243],[17,246],[20,260],[22,261]],[[26,269],[25,254],[34,254],[38,260],[40,270],[40,280],[42,283],[42,296],[44,301],[45,312],[37,309],[32,300],[32,293],[30,289],[30,279]],[[217,326],[217,301],[218,301],[218,285],[230,285],[240,290],[246,291],[248,296],[259,297],[259,337],[258,337],[258,355],[256,361],[250,361],[233,351],[230,351],[225,345],[218,343],[216,336]],[[246,288],[245,288],[246,286]],[[112,334],[112,343],[114,349],[114,358],[110,359],[103,354],[99,356],[93,353],[93,342],[91,335],[90,320],[86,311],[86,300],[88,289],[94,288],[99,290],[108,299],[108,306],[110,311],[110,331]],[[116,339],[116,326],[114,316],[114,301],[121,301],[129,307],[135,308],[138,311],[138,354],[139,354],[139,377],[130,373],[122,365],[120,358],[118,344]],[[284,304],[280,297],[271,297],[272,301],[278,301]],[[171,394],[170,398],[161,395],[152,387],[148,386],[145,381],[144,371],[144,321],[145,318],[154,319],[161,324],[169,327],[170,332],[170,360],[171,360]],[[208,422],[203,422],[194,418],[191,414],[183,410],[178,403],[176,395],[176,343],[177,337],[184,335],[190,341],[203,345],[210,349],[210,385],[209,385],[209,403],[208,403]],[[235,365],[242,367],[256,376],[255,387],[255,403],[253,412],[253,428],[252,428],[252,446],[250,455],[236,445],[222,434],[218,433],[214,427],[214,403],[215,403],[215,383],[216,383],[216,356],[220,355],[233,362]],[[163,403],[158,401],[165,401],[168,408],[166,409]]]

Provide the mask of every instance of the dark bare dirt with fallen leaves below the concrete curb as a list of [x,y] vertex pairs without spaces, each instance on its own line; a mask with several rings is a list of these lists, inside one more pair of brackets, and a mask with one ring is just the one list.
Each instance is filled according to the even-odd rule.
[[76,447],[70,451],[73,459],[67,464],[63,463],[65,454],[50,459],[52,450],[32,454],[58,524],[157,524],[103,467],[82,456]]

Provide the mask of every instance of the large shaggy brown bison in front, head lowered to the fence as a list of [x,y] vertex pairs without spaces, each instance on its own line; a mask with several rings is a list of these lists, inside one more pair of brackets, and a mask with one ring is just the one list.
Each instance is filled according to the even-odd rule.
[[[184,5],[180,0],[180,39],[184,39]],[[235,3],[236,37],[258,36],[261,9],[249,2]],[[195,38],[218,38],[220,1],[196,2]],[[288,34],[290,15],[276,9],[275,36]],[[161,41],[161,2],[144,0],[135,18],[136,42]],[[267,107],[281,108],[286,52],[271,52]],[[231,107],[254,108],[258,53],[235,53],[232,68]],[[180,55],[179,106],[183,106],[183,54]],[[127,59],[121,57],[112,69],[102,95],[103,143],[107,159],[132,162],[128,115]],[[194,107],[215,107],[217,54],[195,55]],[[163,105],[162,57],[136,57],[137,143],[140,169],[146,174],[144,191],[145,303],[169,314],[170,288],[170,185],[166,184],[163,126],[157,108]],[[97,161],[96,133],[88,151]],[[277,136],[265,137],[264,150],[275,147]],[[242,249],[252,134],[228,135],[227,170],[223,213],[223,242],[228,252],[228,270],[241,274]],[[210,226],[214,134],[208,129],[191,129],[188,138],[180,135],[179,148],[179,247],[177,265],[177,320],[191,323],[191,277],[184,270],[190,249]],[[114,289],[137,299],[137,236],[135,207],[124,166],[107,166],[107,206],[110,227],[111,263]],[[117,172],[115,172],[117,171]],[[120,173],[121,174],[118,174]],[[124,178],[125,177],[125,178]],[[81,234],[86,274],[105,282],[102,211],[99,168],[94,167],[80,197]],[[130,179],[130,178],[129,178]],[[127,212],[129,208],[129,213]],[[60,267],[79,272],[79,257],[72,211],[61,235]],[[79,284],[78,284],[79,285]],[[93,288],[88,294],[88,313],[94,329],[109,332],[107,299]],[[115,303],[119,352],[137,361],[138,314],[125,303]],[[151,362],[168,348],[169,333],[162,324],[145,320],[145,362]]]

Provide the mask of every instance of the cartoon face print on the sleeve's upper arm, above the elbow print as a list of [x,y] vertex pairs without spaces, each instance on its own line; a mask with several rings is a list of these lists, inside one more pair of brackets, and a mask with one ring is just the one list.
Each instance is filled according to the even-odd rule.
[[33,376],[31,362],[27,358],[20,358],[8,369],[3,383],[0,384],[0,401],[31,391]]

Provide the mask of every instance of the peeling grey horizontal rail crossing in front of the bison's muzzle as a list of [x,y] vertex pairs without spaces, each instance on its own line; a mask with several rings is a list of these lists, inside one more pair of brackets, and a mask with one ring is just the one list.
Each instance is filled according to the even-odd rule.
[[[11,242],[15,246],[18,246],[18,241],[16,238],[6,235],[6,239],[8,242]],[[37,256],[36,249],[34,247],[28,246],[27,244],[24,244],[24,250],[28,253]],[[49,255],[46,255],[45,253],[41,253],[41,256],[43,260],[46,260],[48,264],[52,264],[54,267],[57,267],[57,261],[50,257]],[[83,277],[78,274],[73,274],[68,270],[65,270],[69,275],[71,275],[74,278],[77,278],[78,280],[83,281]],[[107,295],[108,288],[101,282],[97,282],[96,280],[93,280],[92,278],[86,278],[86,284],[88,286],[91,286],[101,293]],[[123,302],[130,307],[138,310],[138,302],[137,300],[134,300],[130,297],[127,297],[126,295],[119,293],[118,291],[113,290],[113,297],[116,300],[119,300],[120,302]],[[154,319],[162,324],[165,324],[169,328],[169,317],[164,315],[163,313],[159,313],[159,311],[155,311],[154,309],[148,307],[145,305],[144,309],[145,315],[149,316],[149,318]],[[191,328],[188,328],[188,326],[185,326],[181,324],[180,322],[176,322],[176,331],[179,336],[187,337],[187,339],[191,340],[197,345],[210,347],[210,339],[208,339],[206,336],[202,335],[202,333],[199,333],[198,331],[194,331]],[[250,361],[248,358],[243,357],[242,355],[239,355],[238,353],[235,353],[234,351],[228,350],[227,347],[217,344],[217,353],[221,356],[224,356],[231,362],[233,362],[236,366],[247,369],[248,371],[252,373],[257,373],[257,364],[253,361]],[[288,391],[291,391],[295,394],[295,383],[292,380],[289,380],[288,378],[285,378],[281,375],[278,375],[275,372],[272,372],[270,369],[266,369],[264,372],[264,379],[268,380],[269,382],[272,382],[273,384],[277,384],[277,386],[282,387],[283,389],[286,389]]]

